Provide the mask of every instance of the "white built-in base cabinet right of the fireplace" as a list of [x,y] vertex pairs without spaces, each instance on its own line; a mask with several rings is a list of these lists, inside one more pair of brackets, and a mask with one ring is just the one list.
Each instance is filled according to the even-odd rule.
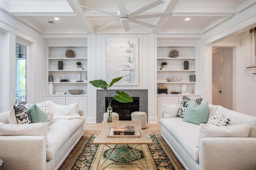
[[[161,118],[161,110],[164,109],[164,104],[180,104],[182,101],[183,95],[174,95],[174,94],[168,94],[168,95],[163,95],[159,94],[157,96],[157,117],[158,121],[160,121]],[[201,96],[200,95],[190,95],[187,96],[190,99],[198,99]]]

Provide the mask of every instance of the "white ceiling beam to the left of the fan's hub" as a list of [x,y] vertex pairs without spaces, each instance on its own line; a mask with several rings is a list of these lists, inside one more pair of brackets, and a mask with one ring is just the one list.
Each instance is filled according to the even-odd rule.
[[82,25],[84,26],[86,31],[88,33],[94,33],[92,24],[87,20],[83,20],[83,19],[87,19],[87,18],[84,16],[84,12],[83,12],[82,8],[80,7],[82,5],[81,0],[67,0],[67,2],[70,5],[70,7],[72,8],[72,10],[76,13],[78,19],[80,20],[80,22],[82,23]]

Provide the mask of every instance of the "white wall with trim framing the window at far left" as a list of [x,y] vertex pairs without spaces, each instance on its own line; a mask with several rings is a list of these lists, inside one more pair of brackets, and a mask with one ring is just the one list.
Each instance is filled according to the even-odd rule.
[[[0,30],[4,32],[5,38],[4,42],[1,45],[1,47],[7,47],[8,49],[11,49],[9,52],[14,53],[9,55],[7,54],[6,58],[4,60],[8,60],[9,57],[12,61],[12,57],[14,57],[15,60],[15,42],[16,38],[22,39],[23,41],[26,41],[29,45],[29,59],[28,59],[28,71],[29,76],[27,77],[27,91],[28,91],[28,97],[27,102],[28,103],[36,103],[36,102],[42,102],[43,101],[43,94],[46,91],[46,43],[44,39],[42,38],[41,33],[38,33],[28,25],[22,23],[20,20],[14,18],[12,15],[8,14],[4,10],[0,9]],[[10,35],[10,36],[7,36]],[[12,36],[14,35],[14,36]],[[1,38],[0,38],[1,39]],[[4,48],[5,49],[5,48]],[[7,50],[5,50],[7,51]],[[6,52],[5,52],[6,53]],[[9,69],[6,70],[4,68],[4,72],[8,75],[12,75],[15,72],[15,64],[9,63],[6,61],[0,63],[0,67],[8,67]],[[8,104],[1,107],[3,108],[2,111],[6,111],[10,109],[10,107],[15,103],[15,84],[12,86],[9,83],[12,81],[12,76],[1,76],[0,82],[3,82],[3,89],[2,92],[8,91],[8,94],[5,93],[0,96],[2,98],[1,100],[4,102],[6,99],[8,99]],[[15,80],[15,74],[13,77],[13,80]],[[9,86],[10,85],[10,86]],[[10,99],[9,99],[10,98]],[[1,102],[2,103],[2,102]],[[1,110],[1,109],[0,109]]]

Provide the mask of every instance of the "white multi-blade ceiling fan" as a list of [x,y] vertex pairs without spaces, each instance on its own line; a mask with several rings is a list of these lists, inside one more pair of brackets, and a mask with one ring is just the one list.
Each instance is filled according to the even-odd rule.
[[169,13],[158,13],[158,14],[148,14],[148,15],[138,15],[138,14],[141,14],[142,12],[145,12],[151,8],[154,8],[162,3],[164,3],[164,1],[162,0],[156,0],[150,4],[147,4],[145,6],[143,6],[142,8],[139,8],[138,10],[135,10],[133,12],[130,12],[128,10],[126,10],[125,8],[125,4],[124,4],[124,0],[117,0],[118,2],[118,8],[119,8],[119,11],[117,12],[117,15],[116,14],[112,14],[112,13],[109,13],[109,12],[106,12],[106,11],[102,11],[102,10],[98,10],[98,9],[95,9],[95,8],[91,8],[89,6],[84,6],[82,5],[81,7],[83,8],[87,8],[87,9],[90,9],[90,10],[95,10],[95,11],[98,11],[98,12],[102,12],[104,14],[108,14],[110,16],[114,16],[115,18],[96,18],[96,19],[83,19],[83,20],[107,20],[107,19],[116,19],[116,21],[112,22],[112,23],[109,23],[107,25],[105,25],[104,27],[101,27],[99,28],[98,30],[100,29],[104,29],[118,21],[121,21],[124,25],[124,29],[125,31],[129,31],[130,30],[130,26],[129,26],[129,23],[128,22],[132,22],[132,23],[136,23],[136,24],[139,24],[139,25],[144,25],[146,27],[151,27],[151,28],[154,28],[156,25],[153,25],[151,23],[147,23],[147,22],[143,22],[143,21],[140,21],[140,20],[137,20],[137,19],[144,19],[144,18],[158,18],[158,17],[168,17],[168,16],[172,16],[172,13],[169,12]]

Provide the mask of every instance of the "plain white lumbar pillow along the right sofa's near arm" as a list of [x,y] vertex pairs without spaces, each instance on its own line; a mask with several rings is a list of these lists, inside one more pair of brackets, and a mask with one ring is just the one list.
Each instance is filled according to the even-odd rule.
[[214,126],[201,124],[199,138],[204,137],[248,137],[249,125]]

